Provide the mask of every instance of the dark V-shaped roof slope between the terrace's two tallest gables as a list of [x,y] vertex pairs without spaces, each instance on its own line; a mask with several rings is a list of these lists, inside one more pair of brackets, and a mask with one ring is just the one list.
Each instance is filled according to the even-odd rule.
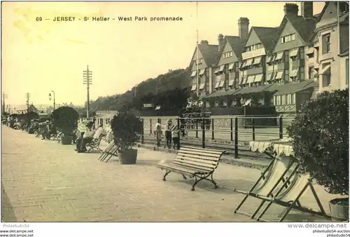
[[[265,50],[271,51],[274,48],[274,44],[278,41],[279,34],[281,33],[280,27],[251,27],[251,31],[259,37]],[[249,33],[249,35],[251,32]]]

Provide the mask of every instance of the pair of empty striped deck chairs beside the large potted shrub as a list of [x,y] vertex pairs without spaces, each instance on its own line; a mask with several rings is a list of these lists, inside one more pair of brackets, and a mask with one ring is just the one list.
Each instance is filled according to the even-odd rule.
[[[300,198],[308,187],[311,189],[320,211],[305,208],[301,205]],[[290,156],[272,156],[271,163],[269,163],[265,171],[262,172],[259,179],[249,191],[234,190],[245,194],[245,197],[237,206],[235,213],[248,215],[251,219],[267,222],[267,220],[262,219],[262,217],[273,203],[286,208],[286,210],[281,213],[279,222],[283,222],[283,219],[286,218],[292,209],[330,219],[330,216],[326,215],[321,201],[312,186],[311,177],[309,177],[307,173],[300,172],[299,163],[295,158]],[[261,201],[260,205],[253,213],[246,213],[240,210],[248,197],[258,198]],[[266,203],[267,205],[263,208]]]

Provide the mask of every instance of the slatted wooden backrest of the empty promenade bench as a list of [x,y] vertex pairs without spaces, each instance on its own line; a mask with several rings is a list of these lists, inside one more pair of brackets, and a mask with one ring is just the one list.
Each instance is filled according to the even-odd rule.
[[184,146],[179,149],[172,163],[211,172],[218,167],[218,163],[224,152],[215,149]]

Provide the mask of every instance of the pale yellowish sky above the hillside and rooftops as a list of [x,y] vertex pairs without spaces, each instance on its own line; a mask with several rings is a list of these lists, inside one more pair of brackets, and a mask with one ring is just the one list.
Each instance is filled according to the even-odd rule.
[[[26,93],[34,105],[50,104],[51,90],[56,104],[84,104],[83,70],[88,65],[90,100],[124,93],[169,69],[188,67],[197,28],[199,41],[217,44],[218,34],[238,35],[240,17],[249,19],[249,27],[278,27],[284,4],[199,2],[197,18],[196,2],[2,2],[1,92],[6,104],[25,104]],[[314,14],[323,6],[314,2]],[[55,17],[75,20],[57,22]],[[97,22],[92,17],[110,20]],[[183,20],[157,22],[152,17]]]

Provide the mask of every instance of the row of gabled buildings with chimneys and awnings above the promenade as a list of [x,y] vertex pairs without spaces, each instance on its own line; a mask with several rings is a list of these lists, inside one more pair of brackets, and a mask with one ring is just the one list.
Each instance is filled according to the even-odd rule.
[[[349,87],[349,4],[327,2],[320,14],[313,3],[286,4],[278,27],[251,27],[239,18],[239,36],[202,41],[190,68],[193,92],[210,99],[206,107],[274,106],[295,114],[305,100],[324,90]],[[216,60],[215,60],[216,59]]]

